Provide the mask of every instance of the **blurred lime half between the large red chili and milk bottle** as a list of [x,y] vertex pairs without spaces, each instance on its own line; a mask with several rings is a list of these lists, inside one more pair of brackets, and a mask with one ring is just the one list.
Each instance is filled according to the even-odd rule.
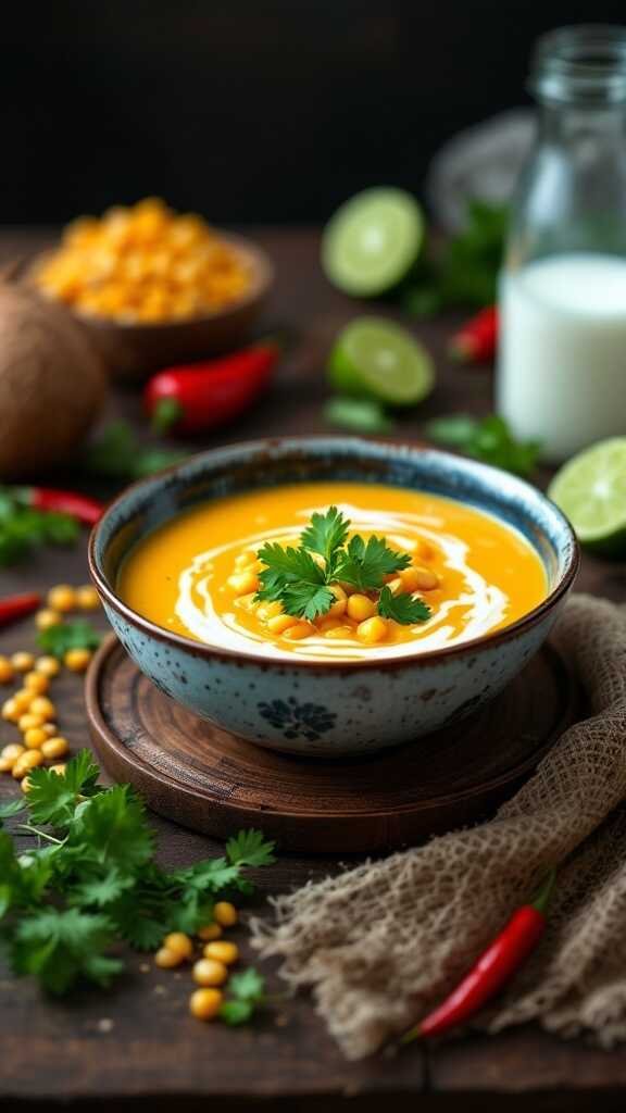
[[434,371],[405,328],[384,317],[356,317],[335,341],[329,378],[340,394],[413,406],[432,391]]

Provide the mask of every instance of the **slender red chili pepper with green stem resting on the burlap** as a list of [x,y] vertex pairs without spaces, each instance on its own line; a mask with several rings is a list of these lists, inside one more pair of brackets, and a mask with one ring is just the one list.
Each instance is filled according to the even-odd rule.
[[469,974],[441,1005],[407,1033],[403,1043],[439,1036],[459,1024],[464,1024],[506,985],[544,934],[546,909],[554,881],[552,870],[541,885],[535,900],[513,912]]

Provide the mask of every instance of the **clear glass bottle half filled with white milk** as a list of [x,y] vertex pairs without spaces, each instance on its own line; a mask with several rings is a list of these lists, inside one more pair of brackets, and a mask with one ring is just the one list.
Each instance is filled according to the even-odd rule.
[[626,28],[539,40],[500,286],[497,408],[558,462],[626,434]]

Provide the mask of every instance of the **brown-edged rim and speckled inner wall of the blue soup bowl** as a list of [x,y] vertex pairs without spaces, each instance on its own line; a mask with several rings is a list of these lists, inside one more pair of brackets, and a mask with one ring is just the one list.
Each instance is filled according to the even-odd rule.
[[[539,499],[544,504],[544,510],[552,515],[555,521],[558,523],[559,529],[564,532],[565,536],[569,540],[569,553],[566,561],[565,568],[561,571],[560,579],[552,588],[550,593],[544,599],[538,607],[535,607],[527,614],[524,614],[516,622],[511,622],[510,626],[503,627],[500,630],[496,630],[492,633],[488,633],[481,638],[472,638],[469,641],[460,642],[456,646],[449,646],[444,649],[434,649],[423,651],[417,649],[414,653],[408,652],[403,653],[399,658],[378,658],[371,661],[351,661],[351,660],[331,660],[331,661],[319,661],[313,658],[295,658],[294,661],[288,661],[291,669],[302,670],[302,672],[307,672],[313,669],[315,672],[336,672],[338,670],[344,673],[361,673],[368,669],[381,670],[397,670],[401,668],[407,668],[410,664],[430,664],[437,663],[439,661],[446,660],[450,657],[463,657],[471,656],[473,651],[482,648],[491,648],[493,646],[501,644],[502,642],[510,641],[515,639],[519,633],[540,622],[547,613],[552,610],[554,607],[567,594],[570,590],[574,580],[576,579],[576,573],[578,572],[578,567],[580,563],[580,549],[576,540],[576,535],[571,525],[565,514],[550,502],[546,495],[542,494],[538,487],[534,487],[531,484],[526,483],[524,480],[517,476],[511,476],[507,472],[502,472],[498,467],[492,467],[489,464],[479,463],[476,460],[470,460],[466,456],[457,456],[450,452],[442,452],[439,449],[432,449],[428,444],[420,442],[408,442],[398,439],[382,439],[382,437],[360,437],[360,436],[333,436],[326,434],[305,434],[302,436],[297,435],[285,435],[285,436],[274,436],[266,439],[258,439],[254,441],[239,441],[234,444],[221,445],[216,449],[208,449],[206,452],[200,452],[194,456],[187,456],[185,460],[170,467],[165,467],[163,471],[149,475],[146,479],[138,480],[136,483],[130,484],[125,487],[125,490],[107,506],[105,513],[100,520],[94,526],[91,534],[89,536],[88,546],[88,560],[89,560],[89,572],[91,579],[94,580],[100,595],[106,600],[109,607],[116,610],[121,617],[129,622],[131,626],[138,627],[148,637],[157,638],[159,641],[166,642],[167,644],[174,646],[177,649],[186,650],[192,652],[195,657],[203,657],[207,659],[219,659],[224,661],[247,661],[251,664],[262,664],[265,667],[272,667],[273,664],[280,668],[284,668],[284,659],[271,658],[264,656],[262,652],[258,653],[245,653],[238,650],[229,650],[219,646],[208,646],[205,642],[196,641],[193,638],[186,638],[184,634],[174,633],[173,631],[166,630],[164,627],[157,626],[151,622],[150,619],[144,618],[137,611],[134,611],[127,603],[125,603],[117,592],[111,588],[107,577],[100,568],[99,561],[96,556],[96,549],[98,545],[99,533],[102,529],[105,522],[115,513],[120,506],[124,505],[125,500],[130,493],[140,491],[144,487],[149,487],[155,481],[165,479],[167,476],[176,476],[177,473],[185,466],[189,464],[193,460],[195,463],[199,463],[206,460],[211,463],[216,456],[223,452],[242,452],[244,454],[251,452],[272,452],[281,450],[283,446],[290,446],[293,451],[297,450],[300,452],[305,452],[307,445],[326,443],[329,445],[335,444],[338,449],[345,449],[345,445],[350,443],[354,446],[362,447],[364,454],[368,453],[368,447],[370,445],[378,445],[387,449],[398,449],[404,453],[409,452],[411,454],[419,454],[420,452],[428,452],[430,456],[441,457],[442,463],[450,466],[450,464],[466,470],[466,473],[475,474],[479,480],[482,477],[487,481],[487,485],[492,489],[498,482],[501,482],[502,477],[507,480],[515,479],[517,484],[521,485],[521,489],[526,489],[532,498]],[[451,495],[450,498],[453,498]],[[294,654],[295,656],[295,654]]]

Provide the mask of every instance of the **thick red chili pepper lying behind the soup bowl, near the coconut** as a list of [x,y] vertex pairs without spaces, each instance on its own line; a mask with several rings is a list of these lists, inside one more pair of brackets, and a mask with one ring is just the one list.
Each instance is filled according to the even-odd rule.
[[280,353],[264,341],[221,359],[168,367],[150,378],[144,401],[159,433],[195,433],[237,417],[266,386]]

